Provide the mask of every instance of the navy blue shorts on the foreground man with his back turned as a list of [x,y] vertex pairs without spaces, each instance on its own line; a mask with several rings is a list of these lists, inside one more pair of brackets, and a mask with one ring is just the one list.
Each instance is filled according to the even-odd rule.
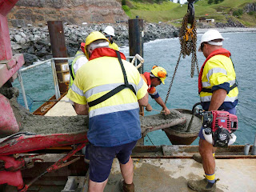
[[130,154],[137,141],[122,146],[94,146],[89,144],[86,147],[90,158],[90,180],[93,182],[104,182],[110,175],[113,159],[118,158],[122,164],[130,159]]

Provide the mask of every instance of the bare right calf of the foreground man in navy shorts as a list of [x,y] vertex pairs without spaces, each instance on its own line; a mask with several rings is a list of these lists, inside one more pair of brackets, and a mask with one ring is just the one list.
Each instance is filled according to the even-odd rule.
[[134,164],[133,160],[129,158],[129,161],[126,164],[120,163],[120,169],[122,177],[124,178],[126,184],[131,184],[134,179]]

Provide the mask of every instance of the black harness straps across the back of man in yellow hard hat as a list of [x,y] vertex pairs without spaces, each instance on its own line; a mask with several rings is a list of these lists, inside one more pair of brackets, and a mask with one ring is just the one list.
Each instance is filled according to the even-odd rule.
[[127,76],[126,76],[126,70],[125,70],[125,68],[124,68],[124,66],[123,66],[120,53],[119,53],[119,51],[117,51],[117,50],[116,50],[115,52],[116,52],[116,54],[118,55],[118,61],[119,61],[120,66],[121,66],[121,68],[122,68],[122,74],[123,74],[123,78],[124,78],[125,84],[122,84],[122,85],[120,85],[120,86],[114,88],[114,90],[110,90],[110,92],[108,92],[108,93],[102,95],[102,97],[97,98],[97,99],[95,99],[95,100],[92,101],[92,102],[88,102],[88,105],[89,105],[90,107],[96,106],[96,105],[98,105],[98,103],[101,103],[101,102],[106,101],[106,99],[111,98],[114,94],[117,94],[118,92],[120,92],[121,90],[125,89],[126,87],[128,87],[130,90],[132,90],[132,91],[134,92],[134,94],[136,95],[136,92],[135,92],[135,90],[134,90],[134,87],[128,83]]

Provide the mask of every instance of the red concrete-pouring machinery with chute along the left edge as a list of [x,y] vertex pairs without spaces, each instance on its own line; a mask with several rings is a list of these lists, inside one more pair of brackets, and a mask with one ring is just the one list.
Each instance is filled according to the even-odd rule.
[[[18,70],[24,64],[22,54],[12,54],[10,45],[10,34],[6,15],[14,7],[18,0],[0,0],[0,87],[8,81],[13,81],[17,77]],[[74,159],[66,162],[68,158],[81,150],[86,145],[86,132],[79,134],[29,134],[17,133],[19,123],[10,106],[9,100],[0,94],[0,135],[10,135],[6,138],[0,138],[0,162],[4,162],[4,167],[0,167],[0,185],[8,184],[17,186],[19,191],[26,191],[29,186],[42,174],[58,170],[63,166],[76,161]],[[13,154],[26,153],[28,151],[42,150],[53,146],[66,146],[75,143],[82,143],[70,151],[64,158],[50,166],[46,172],[34,178],[29,184],[25,185],[22,179],[21,169],[27,168],[29,164],[25,162],[25,156],[15,158]],[[26,156],[31,158],[30,162],[38,160],[34,155]],[[32,159],[33,158],[33,159]],[[39,159],[40,160],[40,159]],[[31,165],[30,165],[31,166]]]

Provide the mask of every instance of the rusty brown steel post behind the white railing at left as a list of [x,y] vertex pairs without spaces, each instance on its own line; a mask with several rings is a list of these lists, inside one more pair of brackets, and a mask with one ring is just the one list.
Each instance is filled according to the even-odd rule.
[[[47,22],[51,50],[54,58],[67,58],[66,43],[62,21]],[[58,78],[58,86],[61,94],[65,94],[69,88],[70,69],[68,60],[56,60],[55,68]]]

